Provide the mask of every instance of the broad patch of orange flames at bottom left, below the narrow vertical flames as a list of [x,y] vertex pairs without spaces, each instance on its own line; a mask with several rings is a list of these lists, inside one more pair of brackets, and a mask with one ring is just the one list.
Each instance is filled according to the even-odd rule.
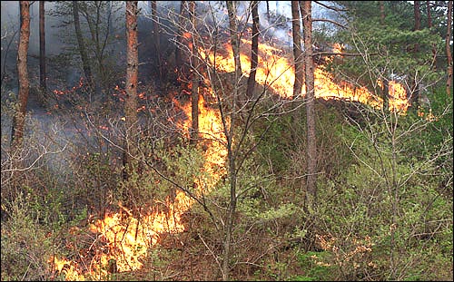
[[[119,203],[119,212],[108,213],[90,225],[90,231],[99,234],[92,244],[94,257],[86,271],[75,261],[65,258],[50,258],[54,271],[64,273],[66,280],[103,279],[109,273],[133,271],[143,267],[148,248],[155,245],[163,233],[178,233],[184,230],[181,223],[183,212],[192,205],[182,191],[177,191],[175,199],[165,203],[166,211],[157,207],[134,218],[133,213]],[[104,242],[102,247],[96,241]],[[91,248],[92,248],[91,247]],[[84,258],[81,258],[84,260]]]

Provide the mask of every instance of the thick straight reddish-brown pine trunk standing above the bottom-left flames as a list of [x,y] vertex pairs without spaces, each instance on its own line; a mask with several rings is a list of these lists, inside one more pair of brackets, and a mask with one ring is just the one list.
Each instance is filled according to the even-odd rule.
[[[139,58],[137,50],[137,3],[126,1],[126,99],[124,102],[125,140],[123,153],[123,178],[128,179],[133,170],[131,155],[135,154],[133,140],[137,126],[137,77]],[[129,171],[124,171],[129,169]]]

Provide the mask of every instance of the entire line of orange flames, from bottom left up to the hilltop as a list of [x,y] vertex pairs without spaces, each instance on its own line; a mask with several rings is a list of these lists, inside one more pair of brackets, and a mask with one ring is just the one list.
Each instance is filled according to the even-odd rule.
[[[189,39],[187,35],[184,38]],[[242,45],[250,46],[251,43],[242,40]],[[213,53],[206,53],[202,48],[199,49],[199,52],[202,54],[203,60],[215,64],[217,71],[234,72],[230,44],[225,44],[224,53],[218,53],[215,58]],[[333,52],[341,53],[341,46],[335,45]],[[331,60],[331,57],[328,57],[327,60]],[[242,50],[241,63],[243,74],[249,75],[251,62],[249,55],[244,50]],[[343,99],[381,107],[380,97],[375,97],[365,87],[355,88],[350,83],[335,83],[331,74],[326,72],[322,65],[317,66],[314,74],[315,96],[318,98]],[[259,44],[257,83],[269,86],[281,98],[291,99],[294,76],[291,57],[281,49]],[[210,192],[214,184],[226,173],[227,151],[222,144],[222,141],[225,141],[222,119],[219,111],[212,109],[204,99],[204,95],[210,95],[210,93],[212,94],[210,89],[204,94],[199,93],[199,136],[205,158],[201,170],[205,173],[202,175],[209,177],[193,180],[197,187],[196,196]],[[305,95],[304,87],[302,94]],[[393,97],[390,99],[390,109],[405,111],[407,107],[406,92],[399,83],[390,83],[390,95]],[[143,99],[143,96],[143,93],[139,94],[139,98]],[[180,128],[189,132],[192,120],[191,101],[181,104],[174,100],[174,103],[188,117],[186,120],[179,121]],[[139,108],[137,111],[143,110],[143,108]],[[90,264],[84,264],[84,267],[81,267],[75,261],[56,257],[50,258],[49,263],[53,265],[55,272],[64,273],[67,280],[82,280],[87,277],[104,279],[109,273],[141,269],[143,259],[148,255],[148,249],[158,243],[163,233],[183,232],[185,227],[182,223],[182,216],[191,208],[193,202],[193,199],[178,190],[175,199],[168,197],[165,203],[156,203],[153,207],[139,210],[139,213],[134,213],[119,203],[118,212],[108,212],[104,219],[97,219],[90,225],[90,231],[97,234],[95,242],[98,242],[92,244],[93,250],[91,251],[94,255]],[[162,204],[165,208],[158,209]],[[84,258],[81,260],[84,261]]]

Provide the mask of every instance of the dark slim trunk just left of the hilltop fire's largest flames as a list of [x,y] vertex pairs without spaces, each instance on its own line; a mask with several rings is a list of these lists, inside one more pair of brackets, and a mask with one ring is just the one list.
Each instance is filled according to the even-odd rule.
[[251,72],[248,78],[246,97],[251,99],[255,89],[255,74],[259,64],[259,1],[252,1],[252,46],[251,46]]

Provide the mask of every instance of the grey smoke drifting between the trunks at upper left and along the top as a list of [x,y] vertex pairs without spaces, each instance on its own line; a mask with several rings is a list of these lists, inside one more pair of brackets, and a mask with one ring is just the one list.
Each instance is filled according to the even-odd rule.
[[[43,103],[39,101],[36,92],[31,91],[29,96],[28,114],[30,122],[29,131],[42,134],[36,139],[42,143],[46,140],[54,139],[54,148],[59,150],[68,142],[72,144],[83,144],[83,141],[93,142],[86,131],[85,117],[74,119],[68,112],[62,112],[61,102],[58,99],[67,99],[64,95],[58,96],[54,91],[71,90],[78,85],[80,78],[83,76],[82,63],[80,62],[79,53],[77,52],[77,43],[74,35],[74,23],[71,10],[66,8],[65,15],[58,15],[55,12],[59,5],[69,5],[70,2],[44,2],[45,8],[45,53],[47,63],[47,87],[52,99],[51,102]],[[262,1],[259,5],[259,15],[261,31],[264,35],[276,38],[282,44],[291,46],[291,2],[290,1],[269,1],[270,16],[267,15],[267,5]],[[112,28],[109,29],[110,38],[112,41],[106,49],[106,67],[109,70],[114,70],[116,73],[110,75],[116,81],[109,82],[105,85],[108,91],[112,91],[116,85],[123,88],[125,64],[125,20],[124,20],[124,2],[112,2],[116,5],[114,15],[112,17]],[[223,27],[223,30],[228,30],[228,14],[223,1],[197,2],[198,9],[202,12],[212,11],[211,14],[217,24]],[[139,31],[139,81],[142,85],[149,85],[155,82],[157,76],[157,62],[154,59],[153,50],[153,22],[151,20],[151,9],[149,1],[139,1],[141,12],[138,19]],[[173,11],[173,15],[179,12],[179,1],[158,1],[157,11],[161,19],[165,19],[169,15],[169,11]],[[248,13],[249,2],[241,1],[238,5],[238,18],[245,20]],[[320,5],[313,6],[313,15],[319,18],[327,16],[329,13]],[[208,15],[208,14],[207,14]],[[39,5],[38,2],[33,2],[30,6],[30,42],[28,51],[28,70],[32,90],[39,83]],[[201,13],[201,16],[205,16]],[[80,16],[81,25],[85,38],[90,38],[87,23],[83,16]],[[249,21],[252,21],[250,17]],[[2,1],[1,2],[1,24],[2,24],[2,109],[7,108],[6,100],[17,93],[17,74],[16,74],[16,56],[17,44],[19,38],[19,2],[18,1]],[[171,26],[172,27],[172,26]],[[4,37],[5,36],[5,37]],[[159,51],[162,53],[164,60],[172,57],[174,51],[174,34],[162,34],[162,46]],[[168,64],[172,67],[172,63]],[[5,77],[5,79],[4,79]],[[172,80],[171,78],[167,78]],[[176,81],[176,79],[175,79]],[[73,94],[75,94],[73,92]],[[105,94],[105,92],[104,92]],[[112,94],[112,93],[110,93]],[[163,95],[165,95],[163,90]],[[68,96],[68,95],[66,95]],[[47,97],[49,98],[49,97]],[[71,98],[71,97],[69,97]],[[77,103],[73,102],[74,107]],[[9,109],[11,110],[11,109]],[[52,111],[51,111],[52,110]],[[49,114],[52,112],[53,114]],[[121,115],[121,110],[117,109],[113,115]],[[104,117],[105,120],[100,123],[107,124],[106,120],[112,116]],[[70,121],[70,122],[68,122]],[[11,119],[2,111],[2,147],[4,146],[5,137],[8,136],[11,129]],[[49,134],[55,132],[54,137]],[[77,145],[76,145],[77,146]],[[86,150],[89,146],[85,144]],[[2,154],[3,155],[3,154]],[[3,158],[3,156],[2,156]],[[57,158],[53,161],[64,160],[65,158]],[[54,167],[62,167],[61,162],[54,163]]]

